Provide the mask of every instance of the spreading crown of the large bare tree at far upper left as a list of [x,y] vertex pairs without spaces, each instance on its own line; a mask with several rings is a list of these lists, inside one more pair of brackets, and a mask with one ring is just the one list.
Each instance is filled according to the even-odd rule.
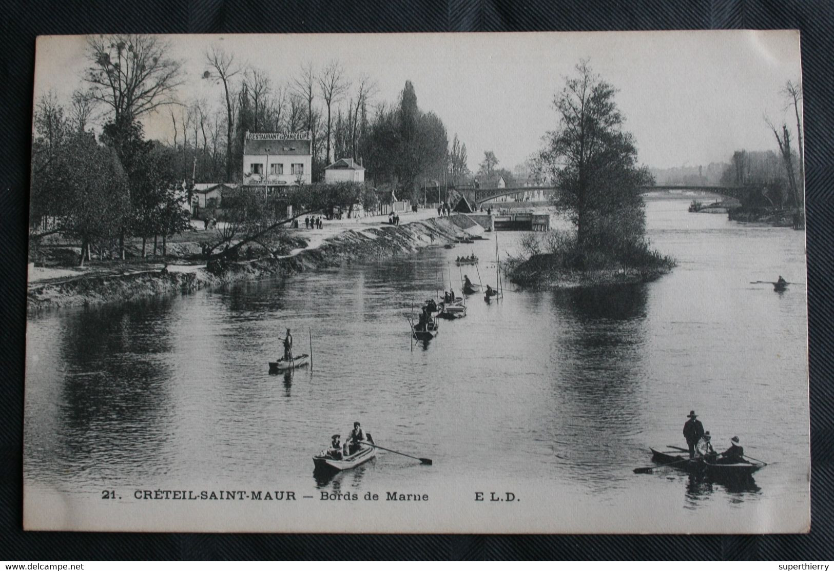
[[182,63],[167,57],[168,42],[157,36],[116,34],[87,41],[91,63],[85,75],[89,96],[113,110],[118,128],[176,100]]

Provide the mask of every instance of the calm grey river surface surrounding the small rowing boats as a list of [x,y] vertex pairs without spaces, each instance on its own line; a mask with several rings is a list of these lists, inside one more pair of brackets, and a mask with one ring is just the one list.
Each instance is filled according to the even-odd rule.
[[[566,291],[505,282],[503,300],[470,296],[465,319],[441,321],[435,340],[413,347],[412,299],[442,292],[450,273],[460,290],[454,260],[472,252],[480,277],[465,273],[495,285],[495,241],[30,315],[28,498],[83,506],[117,489],[133,505],[134,489],[260,485],[313,495],[318,508],[322,490],[455,489],[450,509],[460,501],[461,514],[480,517],[468,511],[475,491],[498,489],[528,502],[504,529],[799,529],[809,505],[806,290],[750,282],[804,282],[804,233],[690,214],[688,201],[647,201],[652,245],[678,262],[660,280]],[[500,232],[501,256],[519,239]],[[269,375],[287,327],[296,354],[312,336],[313,366]],[[737,434],[768,462],[755,481],[633,473],[651,465],[649,446],[686,446],[691,409],[716,449]],[[354,420],[432,465],[380,452],[335,477],[314,474],[311,456]],[[486,487],[495,483],[506,487]],[[432,509],[434,529],[454,529],[442,523],[454,515]]]

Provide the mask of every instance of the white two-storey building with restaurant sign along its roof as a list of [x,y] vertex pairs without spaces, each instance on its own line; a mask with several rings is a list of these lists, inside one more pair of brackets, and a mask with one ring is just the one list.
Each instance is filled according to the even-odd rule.
[[308,132],[246,133],[244,186],[270,189],[312,182],[313,153]]

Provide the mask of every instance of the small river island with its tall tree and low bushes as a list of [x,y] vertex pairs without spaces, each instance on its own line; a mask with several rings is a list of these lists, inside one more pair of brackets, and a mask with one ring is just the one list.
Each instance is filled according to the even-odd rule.
[[643,187],[653,178],[637,164],[634,137],[623,128],[616,88],[582,61],[555,94],[555,130],[535,158],[536,176],[560,189],[553,206],[571,231],[528,234],[521,256],[507,262],[524,286],[604,285],[651,281],[675,261],[646,239]]

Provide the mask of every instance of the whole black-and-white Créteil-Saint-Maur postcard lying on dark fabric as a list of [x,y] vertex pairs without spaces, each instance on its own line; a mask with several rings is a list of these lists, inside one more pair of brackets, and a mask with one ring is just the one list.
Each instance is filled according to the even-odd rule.
[[799,32],[39,37],[24,527],[810,529]]

